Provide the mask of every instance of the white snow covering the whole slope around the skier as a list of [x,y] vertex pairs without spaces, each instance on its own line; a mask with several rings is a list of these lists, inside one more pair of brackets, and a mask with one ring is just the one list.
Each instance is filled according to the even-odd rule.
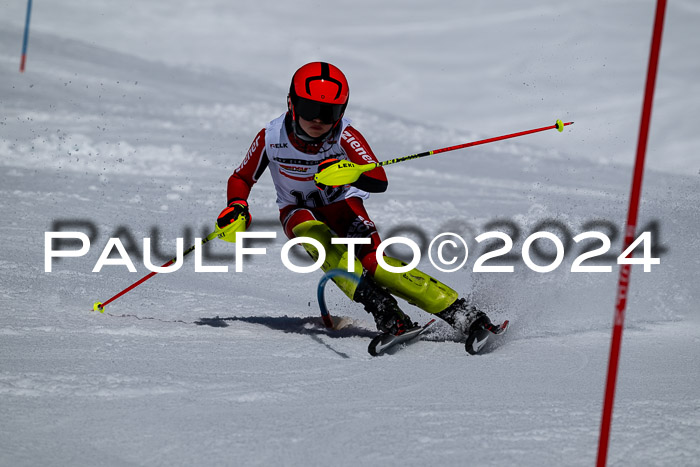
[[[26,3],[2,0],[0,465],[593,464],[617,267],[571,273],[570,240],[624,225],[654,4],[38,1],[19,74]],[[669,2],[665,26],[639,221],[661,264],[632,268],[611,465],[700,456],[697,2]],[[380,159],[576,122],[387,167],[368,202],[384,237],[464,236],[463,269],[420,268],[510,319],[503,345],[470,357],[438,323],[370,357],[370,316],[331,287],[350,324],[324,329],[320,273],[279,258],[268,175],[250,199],[253,230],[278,234],[266,256],[236,273],[211,258],[235,246],[212,242],[205,264],[228,273],[188,258],[91,312],[148,272],[134,254],[138,273],[92,273],[107,239],[158,229],[167,259],[210,231],[291,74],[321,59],[347,74],[347,116]],[[97,227],[90,252],[45,273],[44,232],[76,220]],[[540,274],[518,256],[547,220],[570,245]],[[515,272],[473,273],[474,237],[506,222]],[[194,324],[217,316],[228,326]]]

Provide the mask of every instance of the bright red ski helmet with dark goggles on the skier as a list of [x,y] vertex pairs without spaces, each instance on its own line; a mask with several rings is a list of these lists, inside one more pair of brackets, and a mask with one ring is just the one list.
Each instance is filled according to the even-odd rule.
[[337,124],[348,105],[348,80],[337,67],[311,62],[299,68],[289,86],[292,117]]

